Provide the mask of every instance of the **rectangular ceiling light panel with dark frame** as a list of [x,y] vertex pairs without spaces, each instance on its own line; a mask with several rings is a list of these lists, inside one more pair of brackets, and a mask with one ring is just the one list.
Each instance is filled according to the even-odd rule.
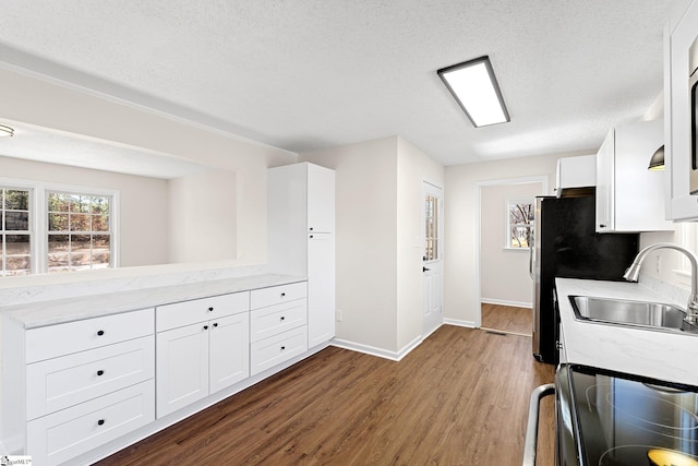
[[437,73],[476,128],[509,121],[490,57],[442,68]]

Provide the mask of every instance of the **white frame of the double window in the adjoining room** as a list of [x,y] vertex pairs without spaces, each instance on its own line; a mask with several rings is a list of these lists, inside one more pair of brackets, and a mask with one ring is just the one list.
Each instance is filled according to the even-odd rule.
[[[63,192],[69,194],[109,196],[109,235],[110,239],[110,262],[109,268],[119,268],[120,266],[120,191],[109,188],[97,188],[67,183],[53,183],[36,180],[4,178],[0,177],[0,187],[17,188],[29,190],[29,231],[31,231],[31,266],[29,275],[48,274],[48,193]],[[93,268],[85,271],[65,271],[57,272],[52,275],[60,275],[69,272],[91,272]],[[0,276],[0,278],[7,278]]]

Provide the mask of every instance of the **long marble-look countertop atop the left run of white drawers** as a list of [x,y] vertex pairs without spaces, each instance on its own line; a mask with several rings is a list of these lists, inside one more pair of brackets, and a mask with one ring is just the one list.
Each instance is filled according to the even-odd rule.
[[1,307],[0,311],[20,322],[25,328],[33,328],[305,279],[291,275],[258,274],[11,304]]

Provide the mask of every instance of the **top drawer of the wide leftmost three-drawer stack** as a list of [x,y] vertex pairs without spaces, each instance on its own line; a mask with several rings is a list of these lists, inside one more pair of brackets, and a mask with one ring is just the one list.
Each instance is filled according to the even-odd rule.
[[36,362],[71,353],[153,335],[154,310],[124,312],[26,332],[26,361]]

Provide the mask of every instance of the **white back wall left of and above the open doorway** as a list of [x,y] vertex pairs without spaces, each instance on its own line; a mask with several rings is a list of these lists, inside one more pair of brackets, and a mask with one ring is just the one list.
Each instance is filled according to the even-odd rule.
[[480,325],[477,231],[478,183],[507,178],[547,176],[554,184],[557,158],[589,154],[544,155],[446,167],[444,316],[450,323]]

